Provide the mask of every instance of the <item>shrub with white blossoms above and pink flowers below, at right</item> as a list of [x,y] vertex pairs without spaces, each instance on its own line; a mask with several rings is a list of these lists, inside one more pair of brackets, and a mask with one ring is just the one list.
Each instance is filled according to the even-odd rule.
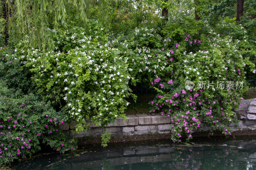
[[[194,129],[202,122],[199,116],[203,117],[203,123],[224,134],[230,134],[230,126],[238,123],[234,108],[239,107],[243,100],[241,96],[248,88],[244,67],[247,65],[255,72],[254,65],[248,58],[243,58],[244,49],[239,49],[239,41],[232,37],[222,39],[214,32],[210,35],[211,38],[202,37],[202,45],[207,51],[186,52],[187,49],[180,46],[176,53],[177,62],[173,63],[177,69],[173,75],[151,82],[159,94],[150,102],[149,114],[161,112],[171,117],[174,142],[180,142],[182,135],[187,139],[192,137]],[[195,86],[186,86],[186,80]]]

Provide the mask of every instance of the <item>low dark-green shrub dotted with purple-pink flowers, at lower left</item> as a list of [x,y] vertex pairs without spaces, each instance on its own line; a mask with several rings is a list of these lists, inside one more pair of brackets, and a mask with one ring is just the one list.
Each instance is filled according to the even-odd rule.
[[59,152],[76,149],[74,139],[57,126],[65,120],[64,112],[56,112],[42,97],[21,95],[0,82],[0,164],[41,150],[41,142]]

